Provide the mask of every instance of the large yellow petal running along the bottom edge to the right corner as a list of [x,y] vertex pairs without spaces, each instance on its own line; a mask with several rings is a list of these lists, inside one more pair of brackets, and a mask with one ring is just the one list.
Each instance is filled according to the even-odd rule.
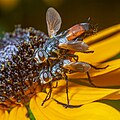
[[[92,103],[92,104],[87,104],[85,106],[83,105],[82,107],[78,107],[78,108],[73,108],[73,109],[67,108],[66,109],[62,105],[57,104],[55,101],[49,100],[44,104],[44,106],[41,106],[41,103],[44,100],[45,96],[46,96],[45,93],[39,93],[37,97],[33,97],[31,99],[30,108],[36,120],[74,120],[74,119],[75,120],[80,120],[80,119],[87,120],[83,118],[86,117],[89,114],[89,112],[92,113],[92,116],[98,115],[97,119],[95,120],[99,120],[99,117],[100,117],[99,115],[105,118],[106,117],[109,118],[108,116],[109,112],[110,113],[112,112],[111,115],[115,115],[115,118],[119,117],[118,111],[102,103]],[[92,106],[93,108],[91,109]],[[99,113],[96,111],[99,111]],[[103,112],[105,114],[103,114]],[[89,115],[88,117],[90,119],[91,115]],[[102,119],[102,117],[100,118],[101,120],[104,120]],[[113,116],[111,118],[113,118]],[[94,119],[91,119],[91,120],[94,120]],[[109,119],[105,119],[105,120],[109,120]],[[117,120],[117,119],[113,119],[113,120]]]

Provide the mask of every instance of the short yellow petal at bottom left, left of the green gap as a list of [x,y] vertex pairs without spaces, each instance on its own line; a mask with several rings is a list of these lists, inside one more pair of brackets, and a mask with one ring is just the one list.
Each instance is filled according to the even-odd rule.
[[17,106],[10,111],[9,120],[29,120],[27,109],[24,106]]

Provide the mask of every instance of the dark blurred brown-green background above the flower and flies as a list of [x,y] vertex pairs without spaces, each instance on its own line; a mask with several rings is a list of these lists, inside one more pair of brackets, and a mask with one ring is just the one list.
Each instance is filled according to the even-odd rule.
[[120,22],[120,0],[0,0],[0,34],[12,31],[16,24],[47,34],[45,15],[51,6],[62,17],[60,31],[88,17],[99,25],[99,30]]

